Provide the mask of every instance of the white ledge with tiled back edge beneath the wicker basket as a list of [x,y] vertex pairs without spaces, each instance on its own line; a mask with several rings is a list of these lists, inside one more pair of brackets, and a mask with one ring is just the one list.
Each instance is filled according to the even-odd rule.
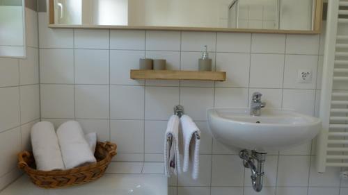
[[[88,184],[62,189],[42,189],[24,175],[0,192],[0,195],[113,195],[135,193],[163,194],[168,192],[164,164],[159,162],[111,162],[106,174]],[[126,192],[127,191],[127,192]]]

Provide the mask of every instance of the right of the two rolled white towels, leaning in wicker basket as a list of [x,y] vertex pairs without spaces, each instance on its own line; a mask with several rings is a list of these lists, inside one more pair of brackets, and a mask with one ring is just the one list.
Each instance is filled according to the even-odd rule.
[[77,121],[62,124],[57,130],[57,136],[66,169],[96,162],[84,137],[84,131]]

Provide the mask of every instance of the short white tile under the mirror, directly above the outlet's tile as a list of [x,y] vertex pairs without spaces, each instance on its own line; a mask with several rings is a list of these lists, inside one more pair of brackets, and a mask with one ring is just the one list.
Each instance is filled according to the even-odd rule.
[[319,35],[287,35],[287,54],[308,54],[319,53]]

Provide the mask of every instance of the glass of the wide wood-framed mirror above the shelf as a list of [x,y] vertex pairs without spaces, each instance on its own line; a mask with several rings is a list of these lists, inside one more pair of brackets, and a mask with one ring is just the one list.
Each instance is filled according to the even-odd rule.
[[311,31],[317,0],[50,1],[53,24]]

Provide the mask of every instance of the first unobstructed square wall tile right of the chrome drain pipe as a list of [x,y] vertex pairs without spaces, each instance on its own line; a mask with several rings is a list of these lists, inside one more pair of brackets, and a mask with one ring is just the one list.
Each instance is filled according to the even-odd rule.
[[309,167],[309,156],[280,155],[278,162],[278,186],[307,187]]

